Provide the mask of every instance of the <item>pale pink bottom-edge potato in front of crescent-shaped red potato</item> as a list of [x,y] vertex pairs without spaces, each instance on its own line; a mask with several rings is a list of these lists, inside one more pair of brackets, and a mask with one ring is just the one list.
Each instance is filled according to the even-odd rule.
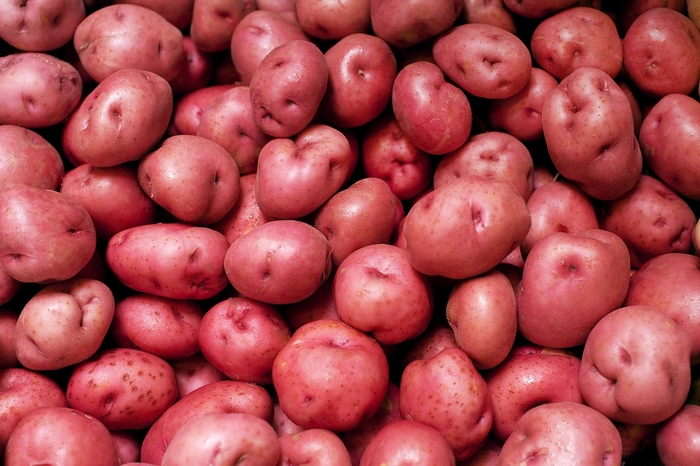
[[162,466],[207,466],[242,462],[277,466],[280,442],[272,426],[252,414],[204,414],[187,422],[173,437]]

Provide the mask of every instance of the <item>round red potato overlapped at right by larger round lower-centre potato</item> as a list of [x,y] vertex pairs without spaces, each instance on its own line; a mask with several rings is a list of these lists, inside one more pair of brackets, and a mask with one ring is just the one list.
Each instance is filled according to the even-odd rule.
[[272,363],[291,332],[273,306],[229,298],[212,306],[199,327],[204,357],[231,380],[270,385]]

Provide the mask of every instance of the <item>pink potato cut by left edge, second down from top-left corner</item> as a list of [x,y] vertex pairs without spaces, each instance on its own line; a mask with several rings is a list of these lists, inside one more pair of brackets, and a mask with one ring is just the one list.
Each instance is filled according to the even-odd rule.
[[0,87],[0,125],[46,128],[78,107],[83,80],[73,65],[53,55],[19,52],[0,57]]

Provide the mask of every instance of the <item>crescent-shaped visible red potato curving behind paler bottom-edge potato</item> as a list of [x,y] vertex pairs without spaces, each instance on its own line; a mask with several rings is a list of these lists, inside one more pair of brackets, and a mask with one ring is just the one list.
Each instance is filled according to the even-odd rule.
[[213,413],[245,413],[272,421],[272,398],[263,387],[224,380],[202,386],[184,396],[158,418],[141,443],[141,461],[161,464],[177,431],[197,416]]

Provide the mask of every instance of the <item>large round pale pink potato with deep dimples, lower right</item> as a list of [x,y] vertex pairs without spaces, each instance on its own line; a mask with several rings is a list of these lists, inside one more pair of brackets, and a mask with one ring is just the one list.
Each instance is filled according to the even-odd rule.
[[[593,328],[581,356],[586,404],[613,421],[656,424],[670,418],[690,390],[692,337],[652,306],[624,306]],[[618,357],[610,358],[610,354]],[[651,392],[646,387],[656,387]]]

